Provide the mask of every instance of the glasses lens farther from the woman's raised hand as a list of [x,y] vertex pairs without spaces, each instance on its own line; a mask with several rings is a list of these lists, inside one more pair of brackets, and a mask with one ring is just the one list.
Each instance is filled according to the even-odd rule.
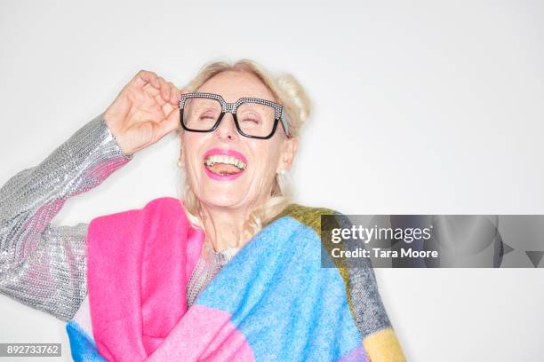
[[245,134],[267,137],[274,127],[275,111],[273,106],[248,102],[238,106],[236,118]]

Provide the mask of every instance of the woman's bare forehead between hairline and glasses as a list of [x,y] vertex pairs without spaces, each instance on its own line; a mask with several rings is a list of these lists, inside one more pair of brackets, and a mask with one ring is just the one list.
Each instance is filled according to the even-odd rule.
[[225,71],[208,79],[197,91],[220,94],[228,103],[243,97],[276,101],[272,91],[257,75],[243,71]]

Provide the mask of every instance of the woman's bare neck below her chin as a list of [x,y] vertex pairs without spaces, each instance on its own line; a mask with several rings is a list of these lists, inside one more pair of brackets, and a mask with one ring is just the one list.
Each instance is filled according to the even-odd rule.
[[244,232],[244,223],[252,209],[249,207],[228,209],[213,205],[202,205],[202,216],[206,240],[215,251],[240,248],[249,240]]

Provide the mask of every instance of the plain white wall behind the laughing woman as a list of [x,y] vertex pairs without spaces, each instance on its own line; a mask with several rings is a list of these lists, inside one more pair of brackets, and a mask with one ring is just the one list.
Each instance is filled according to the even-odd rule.
[[[1,1],[0,185],[138,70],[182,86],[205,62],[251,58],[297,76],[314,102],[296,201],[544,214],[543,15],[540,1]],[[177,196],[178,149],[171,134],[136,154],[53,224]],[[542,360],[544,269],[376,273],[409,360]],[[62,342],[70,360],[63,322],[4,295],[0,320],[0,342]]]

